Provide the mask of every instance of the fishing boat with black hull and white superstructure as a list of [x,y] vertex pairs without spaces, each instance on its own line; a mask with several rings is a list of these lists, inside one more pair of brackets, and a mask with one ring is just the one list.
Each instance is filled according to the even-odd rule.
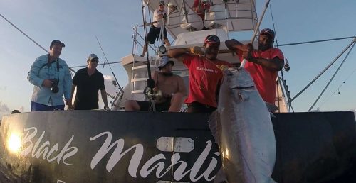
[[[221,157],[206,114],[122,111],[127,100],[147,100],[149,72],[155,70],[167,49],[202,46],[210,34],[218,35],[224,43],[239,31],[258,33],[263,16],[258,19],[254,0],[204,2],[211,8],[204,12],[203,20],[193,11],[193,1],[166,0],[165,27],[174,44],[165,47],[158,41],[147,57],[140,56],[145,23],[133,28],[132,52],[122,58],[129,82],[114,97],[112,110],[4,116],[0,181],[214,182]],[[155,11],[158,4],[142,1],[147,22],[146,11]],[[236,55],[224,44],[220,49],[219,59],[238,64]],[[173,72],[188,83],[189,72],[182,62],[175,62]],[[271,177],[276,182],[356,181],[354,112],[293,113],[282,77],[275,104],[278,111],[273,113],[272,123],[277,153]]]

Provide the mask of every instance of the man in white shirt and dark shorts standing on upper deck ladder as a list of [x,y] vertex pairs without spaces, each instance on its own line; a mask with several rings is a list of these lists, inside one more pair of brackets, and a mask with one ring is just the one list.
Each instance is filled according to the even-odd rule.
[[[162,19],[167,17],[167,11],[164,9],[164,1],[159,1],[158,6],[159,6],[158,9],[156,9],[155,12],[153,13],[153,22],[152,22],[153,25],[150,28],[150,32],[148,32],[146,35],[146,40],[150,44],[155,43],[157,36],[159,36],[159,33],[161,32]],[[166,23],[166,21],[164,21],[164,23]],[[167,30],[165,27],[163,27],[163,40],[167,46],[171,45],[171,43],[169,43],[168,41]],[[147,43],[145,43],[145,45],[143,46],[141,57],[145,57],[146,52],[147,52]]]

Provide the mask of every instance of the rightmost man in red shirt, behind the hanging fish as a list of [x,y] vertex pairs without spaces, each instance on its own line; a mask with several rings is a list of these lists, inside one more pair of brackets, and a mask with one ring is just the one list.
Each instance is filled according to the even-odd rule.
[[258,36],[258,50],[253,45],[243,45],[237,40],[226,40],[226,46],[236,51],[239,59],[246,59],[245,69],[250,72],[262,99],[274,105],[276,100],[278,71],[282,70],[284,56],[281,50],[273,48],[275,33],[269,28],[261,30]]

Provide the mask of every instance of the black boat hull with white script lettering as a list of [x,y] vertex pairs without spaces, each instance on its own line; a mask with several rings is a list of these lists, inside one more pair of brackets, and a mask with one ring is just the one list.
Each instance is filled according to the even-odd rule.
[[[276,182],[356,181],[354,113],[275,115],[277,159],[272,177]],[[0,180],[212,182],[221,161],[207,118],[194,113],[122,111],[4,116]],[[13,153],[9,140],[16,141],[16,135],[21,147]]]

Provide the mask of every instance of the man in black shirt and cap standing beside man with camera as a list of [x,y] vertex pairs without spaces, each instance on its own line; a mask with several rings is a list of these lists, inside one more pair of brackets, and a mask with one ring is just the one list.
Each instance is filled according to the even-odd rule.
[[77,93],[75,94],[74,106],[70,104],[68,109],[99,109],[98,90],[100,90],[101,97],[104,102],[104,109],[109,108],[103,74],[96,70],[98,62],[98,57],[95,54],[90,54],[87,60],[88,67],[80,69],[77,73],[75,73],[72,85],[72,99],[75,87],[77,87]]

